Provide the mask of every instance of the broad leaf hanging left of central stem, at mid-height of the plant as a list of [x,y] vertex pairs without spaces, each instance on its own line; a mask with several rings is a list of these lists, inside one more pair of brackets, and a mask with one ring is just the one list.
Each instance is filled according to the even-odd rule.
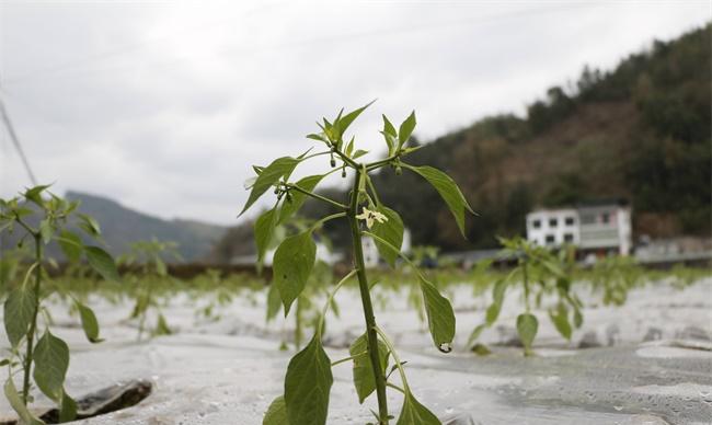
[[315,260],[317,244],[309,231],[285,239],[277,248],[273,264],[274,284],[285,306],[285,315],[305,289]]

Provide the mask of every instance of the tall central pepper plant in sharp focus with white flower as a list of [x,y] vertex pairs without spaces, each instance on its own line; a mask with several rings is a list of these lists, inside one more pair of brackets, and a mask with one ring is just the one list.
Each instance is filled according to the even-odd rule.
[[[404,157],[417,149],[407,145],[416,124],[414,113],[400,125],[398,130],[383,116],[381,134],[388,147],[388,154],[381,160],[369,163],[359,161],[367,152],[356,149],[355,138],[346,138],[345,131],[369,105],[347,114],[344,114],[342,110],[332,122],[323,118],[322,123],[318,123],[320,131],[307,137],[319,142],[325,148],[324,150],[314,153],[310,153],[310,150],[298,157],[283,157],[266,166],[253,168],[256,177],[251,185],[248,202],[240,214],[248,210],[268,189],[274,189],[276,195],[274,207],[262,214],[255,222],[255,241],[260,257],[263,257],[275,227],[291,217],[308,197],[325,203],[337,210],[337,213],[318,220],[307,230],[287,237],[277,248],[273,262],[273,285],[279,294],[285,314],[289,312],[295,300],[303,292],[313,269],[317,253],[317,245],[312,237],[314,230],[329,220],[343,219],[347,221],[353,239],[354,268],[340,280],[330,294],[311,341],[289,361],[284,394],[269,406],[264,418],[265,424],[325,424],[329,393],[333,383],[331,368],[347,361],[353,364],[354,384],[359,402],[363,403],[366,398],[376,392],[378,412],[374,412],[374,415],[379,425],[388,424],[393,417],[387,404],[387,388],[403,393],[403,406],[398,424],[440,423],[416,400],[407,384],[403,363],[400,360],[395,347],[376,322],[370,294],[371,284],[369,284],[364,264],[361,239],[366,236],[372,238],[381,256],[391,265],[394,264],[399,255],[404,261],[409,260],[400,252],[403,241],[403,221],[397,211],[379,200],[369,175],[386,166],[393,168],[397,173],[401,173],[405,169],[421,175],[445,199],[463,234],[466,211],[471,213],[472,209],[447,174],[432,166],[415,166],[404,162]],[[291,174],[299,164],[323,157],[330,158],[332,171],[309,175],[292,182]],[[332,199],[315,192],[318,184],[335,172],[341,172],[344,177],[348,174],[353,177],[347,199]],[[354,276],[358,280],[365,332],[352,344],[349,357],[332,363],[322,345],[324,317],[334,294]],[[423,273],[418,272],[417,276],[430,336],[435,346],[447,353],[451,349],[450,344],[455,336],[452,307]],[[394,361],[392,371],[399,370],[401,386],[391,382],[391,375],[387,375],[391,357]]]

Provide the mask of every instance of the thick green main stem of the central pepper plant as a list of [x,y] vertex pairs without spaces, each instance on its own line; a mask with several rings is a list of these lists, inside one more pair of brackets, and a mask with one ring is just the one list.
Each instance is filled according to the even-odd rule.
[[366,319],[366,340],[368,343],[368,355],[374,369],[376,381],[376,397],[378,398],[378,415],[381,425],[388,425],[388,400],[386,399],[386,377],[381,370],[381,361],[378,353],[378,334],[376,332],[376,318],[374,317],[374,306],[371,295],[368,289],[368,279],[366,277],[366,265],[364,264],[364,246],[361,245],[361,233],[358,229],[358,194],[360,180],[366,176],[361,174],[360,168],[356,169],[354,179],[354,188],[351,194],[351,205],[348,208],[348,222],[351,225],[352,238],[354,241],[354,262],[356,263],[356,273],[358,276],[358,288],[360,289],[361,303],[364,305],[364,318]]

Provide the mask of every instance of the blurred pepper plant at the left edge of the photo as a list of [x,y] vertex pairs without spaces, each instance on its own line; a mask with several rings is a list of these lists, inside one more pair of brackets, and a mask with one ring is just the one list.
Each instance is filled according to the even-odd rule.
[[[74,222],[70,219],[76,218],[79,229],[90,238],[97,239],[99,223],[89,216],[76,213],[78,202],[65,200],[47,191],[48,187],[35,186],[21,196],[0,199],[0,237],[9,238],[10,233],[19,231],[18,244],[30,240],[34,253],[22,283],[10,289],[4,301],[4,328],[10,348],[8,356],[0,361],[0,365],[8,366],[5,398],[21,422],[32,425],[43,422],[27,409],[33,400],[31,378],[39,391],[57,403],[60,422],[71,421],[77,414],[77,404],[64,388],[69,367],[69,347],[50,332],[51,321],[43,307],[43,299],[59,290],[57,286],[48,286],[51,282],[44,267],[51,259],[46,256],[45,248],[56,242],[67,261],[78,262],[83,257],[103,278],[119,280],[111,255],[97,245],[84,244],[82,238],[70,230],[70,225]],[[87,338],[91,343],[101,342],[94,312],[77,297],[66,295],[76,303]],[[44,318],[42,331],[41,318]],[[16,374],[22,376],[20,390],[14,382]]]

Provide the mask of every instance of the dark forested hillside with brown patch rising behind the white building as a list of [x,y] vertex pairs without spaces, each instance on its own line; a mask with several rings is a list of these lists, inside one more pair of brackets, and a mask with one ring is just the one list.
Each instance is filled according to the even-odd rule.
[[527,117],[484,118],[410,157],[460,184],[479,213],[469,241],[418,176],[384,171],[375,180],[381,198],[401,211],[415,243],[446,250],[522,234],[535,206],[618,197],[632,204],[636,236],[709,236],[711,37],[708,25],[656,42],[612,71],[584,68],[575,89],[549,89]]

